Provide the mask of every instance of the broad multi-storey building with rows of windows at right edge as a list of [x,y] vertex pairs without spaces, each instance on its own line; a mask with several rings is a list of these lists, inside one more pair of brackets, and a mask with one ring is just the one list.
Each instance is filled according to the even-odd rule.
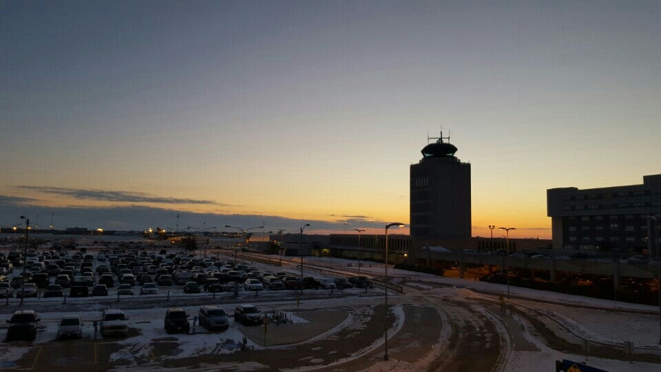
[[554,249],[660,254],[655,249],[661,243],[661,174],[644,176],[642,185],[549,189],[547,212]]

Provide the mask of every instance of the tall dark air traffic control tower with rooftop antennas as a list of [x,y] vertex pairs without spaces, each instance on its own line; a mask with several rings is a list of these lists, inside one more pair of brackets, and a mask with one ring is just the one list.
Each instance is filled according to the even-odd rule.
[[454,156],[457,147],[443,132],[430,139],[437,141],[410,169],[411,237],[470,239],[470,163]]

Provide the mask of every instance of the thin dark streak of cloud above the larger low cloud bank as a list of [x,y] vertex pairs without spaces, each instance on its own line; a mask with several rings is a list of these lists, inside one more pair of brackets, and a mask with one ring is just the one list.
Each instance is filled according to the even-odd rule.
[[41,187],[41,186],[17,186],[20,189],[28,189],[35,192],[57,194],[70,198],[83,200],[104,200],[125,203],[160,203],[160,204],[196,204],[196,205],[219,205],[227,206],[213,200],[198,200],[189,198],[170,198],[156,196],[143,192],[122,192],[98,189],[67,189],[64,187]]

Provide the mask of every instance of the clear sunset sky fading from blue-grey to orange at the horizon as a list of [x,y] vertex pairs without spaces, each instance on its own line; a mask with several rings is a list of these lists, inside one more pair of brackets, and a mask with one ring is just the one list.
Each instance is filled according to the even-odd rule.
[[3,1],[0,224],[407,233],[442,128],[473,235],[550,238],[547,189],[661,173],[660,41],[659,1]]

